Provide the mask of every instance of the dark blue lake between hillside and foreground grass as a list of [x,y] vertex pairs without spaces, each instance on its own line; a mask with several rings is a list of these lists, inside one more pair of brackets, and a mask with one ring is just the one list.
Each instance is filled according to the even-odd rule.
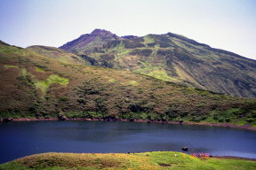
[[237,128],[122,121],[0,123],[0,164],[43,152],[181,151],[256,158],[256,132]]

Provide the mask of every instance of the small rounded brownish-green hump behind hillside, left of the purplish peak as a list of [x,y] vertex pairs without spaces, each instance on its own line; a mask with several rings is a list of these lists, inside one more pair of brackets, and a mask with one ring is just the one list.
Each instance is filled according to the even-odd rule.
[[84,58],[77,56],[76,54],[67,52],[66,50],[61,50],[54,47],[47,47],[41,45],[34,45],[26,48],[27,50],[32,50],[38,54],[41,54],[47,58],[55,58],[61,62],[69,64],[83,64],[87,65]]

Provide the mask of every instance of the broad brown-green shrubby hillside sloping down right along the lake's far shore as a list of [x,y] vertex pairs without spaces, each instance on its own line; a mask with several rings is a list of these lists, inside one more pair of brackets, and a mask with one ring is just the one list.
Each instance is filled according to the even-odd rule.
[[0,118],[184,120],[256,125],[256,100],[72,65],[0,44]]

